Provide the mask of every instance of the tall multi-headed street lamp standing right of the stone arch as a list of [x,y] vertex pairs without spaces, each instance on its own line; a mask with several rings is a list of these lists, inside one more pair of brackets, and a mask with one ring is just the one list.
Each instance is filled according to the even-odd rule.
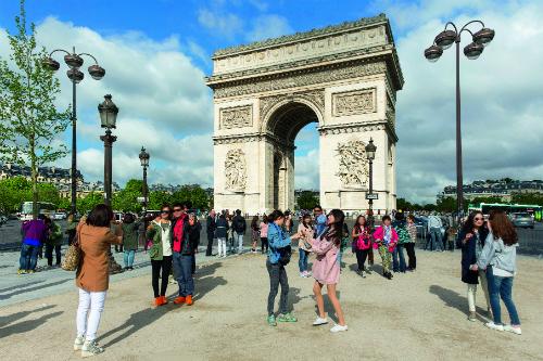
[[[481,29],[472,33],[468,29],[471,24],[480,24]],[[453,29],[447,29],[451,26]],[[464,48],[464,54],[467,59],[476,60],[481,55],[484,47],[494,39],[494,30],[484,27],[481,21],[471,21],[464,25],[459,30],[452,22],[446,23],[445,29],[438,34],[434,43],[425,50],[425,57],[430,62],[437,62],[443,54],[443,50],[456,43],[456,210],[458,212],[458,223],[464,212],[464,179],[462,167],[462,128],[460,128],[460,35],[467,31],[471,35],[472,42]]]

